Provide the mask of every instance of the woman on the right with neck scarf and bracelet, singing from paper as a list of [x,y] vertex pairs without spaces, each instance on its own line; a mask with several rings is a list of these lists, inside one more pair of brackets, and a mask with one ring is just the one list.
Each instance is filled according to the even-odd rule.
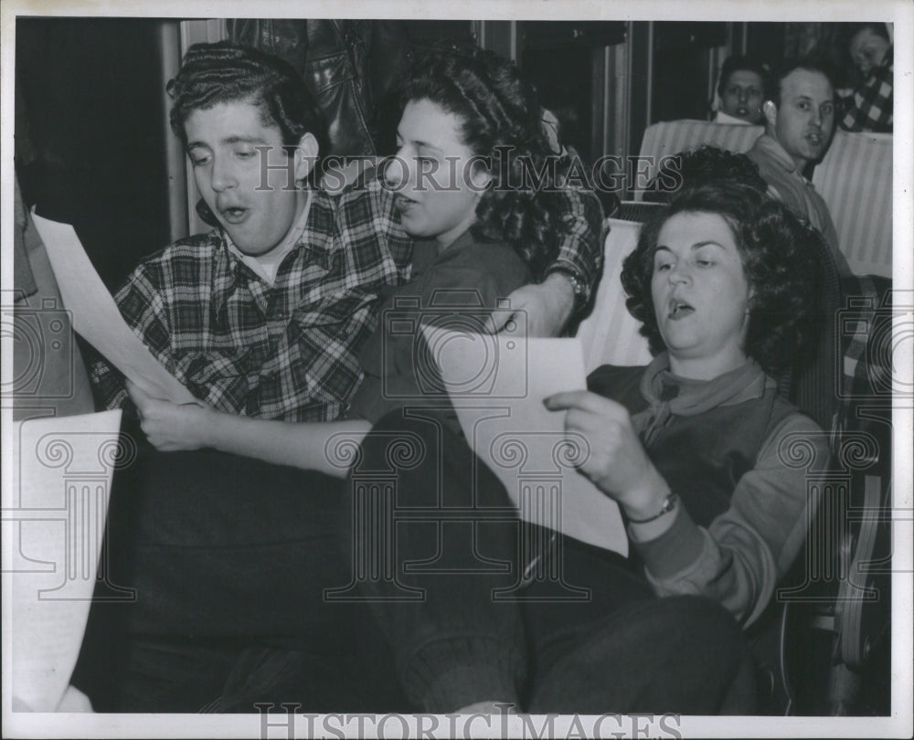
[[[600,367],[589,391],[545,401],[587,439],[579,470],[620,504],[633,553],[620,564],[566,543],[566,578],[603,606],[527,610],[531,711],[752,710],[747,663],[720,651],[745,654],[734,628],[760,617],[805,539],[815,501],[797,449],[828,460],[775,380],[815,329],[814,240],[781,203],[727,182],[686,187],[643,227],[622,285],[654,361]],[[591,681],[632,662],[609,692]]]

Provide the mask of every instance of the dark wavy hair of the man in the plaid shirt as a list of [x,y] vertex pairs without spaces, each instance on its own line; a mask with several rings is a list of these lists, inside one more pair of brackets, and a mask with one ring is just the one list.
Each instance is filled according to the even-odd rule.
[[[173,101],[169,113],[172,131],[185,146],[185,124],[194,111],[245,101],[260,111],[263,125],[279,128],[287,149],[311,133],[318,151],[326,151],[324,116],[302,79],[292,65],[255,48],[228,41],[194,44],[165,91]],[[319,169],[314,166],[312,171]]]

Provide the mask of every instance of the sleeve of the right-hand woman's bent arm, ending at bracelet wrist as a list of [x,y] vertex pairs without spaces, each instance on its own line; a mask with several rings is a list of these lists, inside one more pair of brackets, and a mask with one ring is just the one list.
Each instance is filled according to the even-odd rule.
[[737,483],[730,507],[707,529],[682,505],[664,517],[668,521],[629,524],[629,537],[659,595],[702,594],[744,626],[759,617],[800,552],[817,504],[807,492],[805,468],[789,467],[779,455],[789,434],[812,442],[816,462],[824,466],[824,433],[796,414],[771,433],[755,467]]

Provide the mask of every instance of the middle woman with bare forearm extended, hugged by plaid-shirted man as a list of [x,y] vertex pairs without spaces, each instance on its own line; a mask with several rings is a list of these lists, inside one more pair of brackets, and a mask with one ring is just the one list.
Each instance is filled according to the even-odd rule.
[[[417,239],[412,277],[382,295],[380,325],[359,354],[364,379],[348,420],[266,421],[143,398],[143,431],[158,449],[210,447],[345,476],[345,466],[328,458],[327,440],[340,433],[358,440],[407,399],[426,395],[417,374],[426,365],[419,327],[428,315],[439,328],[483,332],[499,301],[547,277],[568,230],[561,170],[537,92],[515,64],[475,47],[421,49],[403,101],[399,151],[379,175]],[[450,324],[441,322],[442,308]],[[388,332],[391,312],[414,331]],[[432,386],[432,396],[446,398],[440,383]],[[131,392],[143,396],[133,385]]]

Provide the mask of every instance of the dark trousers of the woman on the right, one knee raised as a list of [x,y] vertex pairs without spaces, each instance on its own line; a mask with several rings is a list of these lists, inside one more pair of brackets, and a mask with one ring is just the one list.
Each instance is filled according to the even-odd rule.
[[[657,598],[632,561],[500,520],[511,507],[504,487],[459,429],[423,416],[383,418],[352,476],[384,471],[394,490],[385,526],[395,577],[360,588],[375,599],[412,703],[433,712],[482,701],[542,713],[752,710],[748,646],[723,608]],[[416,450],[400,463],[398,439]],[[346,495],[365,511],[379,490],[353,485]],[[543,545],[535,564],[531,542]],[[410,600],[410,589],[420,597]]]

